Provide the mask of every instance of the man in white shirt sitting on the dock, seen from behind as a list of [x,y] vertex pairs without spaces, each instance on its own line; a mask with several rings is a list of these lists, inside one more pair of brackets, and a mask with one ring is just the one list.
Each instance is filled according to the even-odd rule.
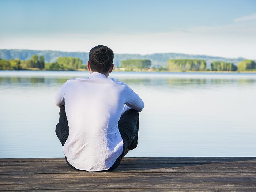
[[125,83],[108,78],[113,59],[110,48],[95,46],[87,62],[89,77],[67,80],[56,94],[56,135],[75,170],[113,170],[137,146],[144,103]]

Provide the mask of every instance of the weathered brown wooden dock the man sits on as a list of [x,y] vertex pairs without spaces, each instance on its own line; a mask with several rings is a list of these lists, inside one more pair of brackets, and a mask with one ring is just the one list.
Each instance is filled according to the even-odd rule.
[[123,158],[112,172],[64,158],[0,159],[0,191],[256,191],[256,157]]

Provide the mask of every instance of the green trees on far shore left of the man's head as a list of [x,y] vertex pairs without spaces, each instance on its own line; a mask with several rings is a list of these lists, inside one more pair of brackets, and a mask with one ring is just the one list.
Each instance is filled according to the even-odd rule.
[[86,69],[81,59],[76,57],[59,57],[56,62],[45,63],[44,56],[33,55],[29,60],[0,59],[0,70],[77,70]]

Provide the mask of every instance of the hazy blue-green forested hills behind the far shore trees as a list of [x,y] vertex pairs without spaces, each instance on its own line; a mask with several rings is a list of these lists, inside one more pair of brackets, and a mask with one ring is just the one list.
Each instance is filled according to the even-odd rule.
[[[82,59],[83,64],[87,63],[89,53],[86,52],[62,52],[62,51],[39,51],[39,50],[23,50],[23,49],[0,49],[0,58],[12,59],[18,58],[20,60],[30,59],[33,54],[43,55],[45,62],[54,62],[59,57],[78,57]],[[212,61],[231,62],[235,65],[244,60],[245,58],[225,58],[213,57],[207,55],[192,55],[182,53],[156,53],[156,54],[115,54],[114,65],[119,66],[122,60],[125,59],[150,59],[153,66],[166,67],[168,59],[204,59],[206,60],[207,67],[210,67]]]

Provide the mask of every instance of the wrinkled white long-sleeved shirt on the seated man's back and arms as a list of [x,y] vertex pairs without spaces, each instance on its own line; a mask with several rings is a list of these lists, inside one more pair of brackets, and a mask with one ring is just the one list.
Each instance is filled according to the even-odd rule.
[[[127,109],[140,112],[144,103],[125,83],[93,72],[88,78],[69,79],[56,94],[65,105],[69,136],[63,146],[68,162],[77,169],[109,169],[123,151],[118,130]],[[124,107],[125,106],[125,107]]]

